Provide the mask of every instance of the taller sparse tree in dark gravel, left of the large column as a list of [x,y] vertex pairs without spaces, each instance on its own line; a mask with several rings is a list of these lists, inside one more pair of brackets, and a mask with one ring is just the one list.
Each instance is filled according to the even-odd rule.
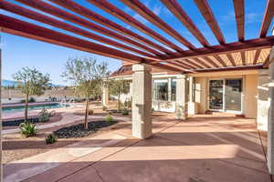
[[106,63],[98,64],[93,57],[68,58],[65,72],[62,74],[70,80],[80,95],[86,98],[86,111],[84,127],[88,129],[89,99],[98,92],[104,77],[110,75]]

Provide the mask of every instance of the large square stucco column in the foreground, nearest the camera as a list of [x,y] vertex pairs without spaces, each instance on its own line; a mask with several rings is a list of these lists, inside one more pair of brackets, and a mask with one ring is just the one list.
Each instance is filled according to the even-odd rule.
[[132,66],[132,136],[147,138],[152,126],[152,75],[151,66]]

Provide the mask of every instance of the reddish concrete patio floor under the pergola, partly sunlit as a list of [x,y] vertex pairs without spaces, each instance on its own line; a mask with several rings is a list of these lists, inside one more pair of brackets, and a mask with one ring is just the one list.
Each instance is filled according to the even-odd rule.
[[255,120],[197,115],[187,121],[154,116],[154,135],[127,136],[113,146],[51,168],[25,181],[270,182]]

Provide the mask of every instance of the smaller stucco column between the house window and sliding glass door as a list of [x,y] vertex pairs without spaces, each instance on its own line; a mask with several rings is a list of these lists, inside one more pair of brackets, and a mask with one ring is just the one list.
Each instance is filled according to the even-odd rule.
[[178,119],[187,118],[187,90],[186,76],[177,76],[176,79],[176,115]]

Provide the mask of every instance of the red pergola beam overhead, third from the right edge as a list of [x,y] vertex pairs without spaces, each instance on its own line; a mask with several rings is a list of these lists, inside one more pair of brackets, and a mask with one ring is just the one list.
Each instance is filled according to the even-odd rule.
[[195,4],[198,6],[200,12],[205,18],[207,25],[209,25],[209,27],[211,28],[218,42],[221,45],[226,44],[225,37],[221,32],[219,25],[216,22],[215,15],[213,15],[213,12],[211,10],[211,7],[207,3],[207,0],[195,0]]

